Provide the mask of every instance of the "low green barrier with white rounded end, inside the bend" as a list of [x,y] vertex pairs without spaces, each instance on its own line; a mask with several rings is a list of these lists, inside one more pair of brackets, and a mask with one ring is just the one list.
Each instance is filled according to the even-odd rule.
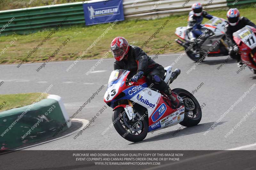
[[[44,99],[34,105],[0,112],[0,151],[53,136],[60,127],[63,128],[66,122],[64,115],[60,103],[54,99]],[[62,131],[65,129],[68,126]]]

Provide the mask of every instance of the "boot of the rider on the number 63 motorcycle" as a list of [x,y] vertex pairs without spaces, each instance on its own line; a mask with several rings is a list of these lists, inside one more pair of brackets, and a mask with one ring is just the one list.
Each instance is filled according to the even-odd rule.
[[164,89],[164,93],[169,97],[169,99],[172,102],[172,109],[179,108],[181,105],[184,105],[183,100],[180,98],[180,96],[172,92],[171,88],[167,85]]

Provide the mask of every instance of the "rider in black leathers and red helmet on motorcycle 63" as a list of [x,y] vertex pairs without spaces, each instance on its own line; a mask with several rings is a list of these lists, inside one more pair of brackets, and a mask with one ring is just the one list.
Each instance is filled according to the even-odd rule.
[[148,85],[153,83],[155,89],[164,92],[170,98],[173,108],[183,105],[182,99],[164,82],[164,67],[152,60],[141,48],[129,45],[124,37],[116,37],[111,42],[111,51],[116,59],[114,70],[131,71],[128,78],[132,76],[133,82],[146,76]]

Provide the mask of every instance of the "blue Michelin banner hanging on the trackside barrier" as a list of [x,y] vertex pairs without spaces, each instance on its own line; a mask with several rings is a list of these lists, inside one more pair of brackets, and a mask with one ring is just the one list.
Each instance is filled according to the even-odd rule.
[[85,25],[124,20],[123,0],[83,4]]

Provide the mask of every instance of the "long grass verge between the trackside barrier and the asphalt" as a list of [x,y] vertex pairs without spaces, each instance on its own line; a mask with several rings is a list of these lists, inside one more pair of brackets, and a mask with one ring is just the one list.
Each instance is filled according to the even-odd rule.
[[[242,16],[245,16],[256,23],[255,14],[248,11],[255,11],[255,8],[247,5],[246,8],[240,9]],[[210,11],[209,13],[217,17],[226,18],[227,11],[216,10]],[[109,30],[108,33],[84,55],[82,59],[102,57],[102,55],[109,50],[110,43],[116,36],[123,36],[130,44],[140,47],[143,45],[144,41],[148,40],[148,38],[164,24],[166,20],[169,20],[169,23],[147,44],[147,47],[143,48],[143,50],[149,55],[155,55],[162,50],[162,47],[169,41],[170,45],[168,48],[163,52],[160,52],[160,54],[180,52],[183,48],[174,41],[178,38],[174,32],[179,26],[187,26],[187,19],[188,15],[174,15],[155,20],[125,20],[118,22],[112,30]],[[207,19],[204,19],[204,21],[207,21]],[[92,26],[71,26],[60,29],[28,59],[28,62],[45,61],[57,48],[59,48],[60,45],[62,45],[63,41],[68,38],[70,41],[60,49],[59,53],[52,59],[52,61],[75,60],[110,25],[111,23],[106,23]],[[4,54],[0,56],[0,63],[20,63],[31,50],[33,50],[33,48],[50,33],[50,31],[51,30],[44,30],[29,35],[13,34],[1,36],[0,53],[1,49],[6,48],[6,45],[8,45],[10,41],[15,38],[17,38],[17,41],[7,48]],[[111,53],[109,53],[108,57],[112,57]]]

